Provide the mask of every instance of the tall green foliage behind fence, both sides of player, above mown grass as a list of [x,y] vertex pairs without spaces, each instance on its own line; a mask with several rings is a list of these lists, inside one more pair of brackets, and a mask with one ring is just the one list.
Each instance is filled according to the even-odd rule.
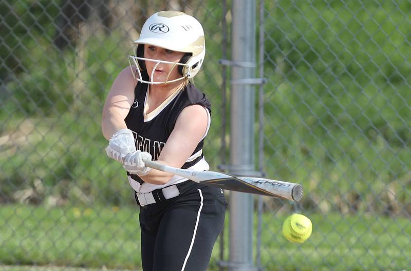
[[[80,37],[76,48],[59,52],[51,42],[58,10],[47,3],[2,3],[13,10],[3,23],[15,26],[14,34],[8,27],[0,30],[9,31],[2,46],[12,48],[0,50],[6,60],[2,69],[12,70],[11,75],[1,71],[11,77],[4,82],[8,93],[2,95],[0,129],[24,140],[17,137],[0,149],[0,195],[16,200],[16,190],[38,179],[47,188],[38,195],[42,202],[57,196],[68,202],[132,203],[123,169],[104,155],[107,142],[100,131],[105,96],[128,64],[127,38],[118,29],[110,35],[95,31]],[[207,59],[195,83],[213,103],[204,151],[214,169],[223,123],[222,34],[215,31],[222,14],[216,3],[195,14],[207,33]],[[411,195],[406,167],[411,163],[411,20],[404,13],[410,4],[265,5],[267,176],[302,183],[307,208],[409,212],[399,206]],[[12,63],[16,60],[20,64]],[[25,128],[27,122],[35,128]]]

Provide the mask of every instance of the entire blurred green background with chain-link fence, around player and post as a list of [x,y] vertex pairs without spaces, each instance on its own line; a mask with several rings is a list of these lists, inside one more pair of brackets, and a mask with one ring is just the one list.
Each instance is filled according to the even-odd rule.
[[[409,269],[411,2],[257,4],[255,74],[264,69],[267,82],[262,104],[255,87],[264,110],[255,167],[301,183],[305,197],[255,197],[255,266]],[[204,153],[220,171],[231,1],[0,0],[0,269],[141,268],[138,207],[123,168],[105,155],[101,111],[146,18],[167,9],[206,32],[195,84],[213,104]],[[313,222],[301,245],[281,234],[294,211]],[[210,270],[229,257],[228,221]]]

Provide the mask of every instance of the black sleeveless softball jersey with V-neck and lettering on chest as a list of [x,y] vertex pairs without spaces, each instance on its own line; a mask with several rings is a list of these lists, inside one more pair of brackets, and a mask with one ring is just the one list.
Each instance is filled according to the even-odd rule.
[[[153,160],[157,160],[160,156],[161,149],[174,129],[174,125],[181,111],[187,106],[198,104],[207,108],[211,113],[211,104],[204,93],[189,83],[184,89],[180,90],[169,104],[160,109],[161,111],[153,119],[144,122],[144,106],[147,90],[148,84],[137,83],[134,89],[134,103],[124,121],[127,128],[134,132],[136,149],[149,152]],[[202,147],[203,140],[198,143],[193,154],[199,152]],[[203,154],[201,153],[200,156],[193,161],[186,162],[181,168],[185,169],[193,166],[200,161],[202,157]],[[130,175],[129,172],[127,172],[127,175],[140,184],[144,182],[137,175]]]

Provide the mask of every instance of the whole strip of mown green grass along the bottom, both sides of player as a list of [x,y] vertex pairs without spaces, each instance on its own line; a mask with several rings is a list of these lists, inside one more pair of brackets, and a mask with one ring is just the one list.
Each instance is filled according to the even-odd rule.
[[[406,270],[411,264],[408,219],[312,214],[311,238],[294,244],[281,235],[287,215],[263,216],[261,265],[265,270]],[[0,217],[0,263],[7,268],[141,266],[137,208],[6,205],[0,208]],[[226,253],[228,235],[226,228]],[[217,269],[218,247],[213,250],[211,270]]]

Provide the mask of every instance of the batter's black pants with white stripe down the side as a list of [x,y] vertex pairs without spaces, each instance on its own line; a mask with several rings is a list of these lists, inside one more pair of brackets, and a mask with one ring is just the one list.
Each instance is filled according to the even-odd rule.
[[144,271],[208,267],[224,223],[226,199],[221,189],[190,180],[177,186],[179,196],[140,207]]

